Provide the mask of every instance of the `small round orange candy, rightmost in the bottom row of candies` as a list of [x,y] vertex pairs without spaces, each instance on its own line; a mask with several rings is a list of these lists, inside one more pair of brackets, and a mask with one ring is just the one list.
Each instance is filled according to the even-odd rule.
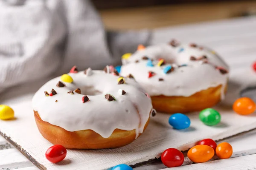
[[233,148],[229,143],[222,142],[222,143],[218,144],[218,146],[216,147],[215,152],[216,152],[216,155],[220,159],[227,159],[227,158],[230,158],[232,156]]

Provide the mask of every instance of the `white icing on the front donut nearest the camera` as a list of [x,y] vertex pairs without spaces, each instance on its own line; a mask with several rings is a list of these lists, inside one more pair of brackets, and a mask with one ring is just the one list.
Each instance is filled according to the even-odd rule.
[[[137,138],[143,133],[152,109],[145,90],[132,78],[125,78],[125,84],[118,85],[118,76],[104,71],[91,72],[90,76],[83,71],[69,73],[73,82],[64,82],[66,87],[61,88],[56,86],[61,77],[50,80],[35,93],[33,109],[38,111],[42,120],[68,131],[90,129],[108,138],[116,128],[135,129]],[[46,97],[44,91],[50,92],[52,88],[57,94]],[[76,88],[80,88],[82,94],[67,94]],[[126,94],[120,94],[119,89]],[[116,101],[108,101],[105,94],[113,95]],[[90,101],[83,103],[83,95],[87,95]]]

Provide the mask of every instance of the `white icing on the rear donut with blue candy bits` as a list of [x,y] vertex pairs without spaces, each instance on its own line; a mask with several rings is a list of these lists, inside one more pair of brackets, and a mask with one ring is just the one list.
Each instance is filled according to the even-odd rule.
[[[182,52],[179,52],[183,48]],[[191,61],[190,57],[196,58],[207,56],[209,64],[201,61]],[[146,66],[148,60],[142,60],[142,57],[154,59],[154,67]],[[163,58],[166,64],[157,66],[157,59]],[[139,62],[135,62],[139,60]],[[191,96],[198,91],[210,87],[222,85],[221,98],[224,98],[224,87],[227,83],[228,74],[221,72],[214,66],[221,66],[228,70],[227,64],[209,48],[191,47],[188,44],[180,44],[173,47],[169,44],[148,46],[144,50],[136,51],[128,59],[122,60],[120,74],[126,76],[132,74],[137,82],[145,88],[150,96]],[[163,68],[171,64],[175,70],[169,74],[164,74]],[[179,67],[186,64],[188,66]],[[156,73],[155,76],[148,78],[148,71]],[[163,78],[163,81],[159,81]]]

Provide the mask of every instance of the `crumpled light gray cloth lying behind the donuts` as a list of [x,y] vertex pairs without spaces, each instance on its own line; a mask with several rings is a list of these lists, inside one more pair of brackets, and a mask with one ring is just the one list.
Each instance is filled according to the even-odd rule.
[[0,91],[73,65],[121,64],[149,39],[148,31],[106,31],[89,0],[0,0]]

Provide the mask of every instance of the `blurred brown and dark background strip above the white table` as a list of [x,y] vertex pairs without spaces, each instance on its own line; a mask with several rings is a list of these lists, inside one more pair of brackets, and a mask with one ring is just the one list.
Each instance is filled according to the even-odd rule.
[[92,0],[108,29],[159,28],[256,14],[256,0]]

